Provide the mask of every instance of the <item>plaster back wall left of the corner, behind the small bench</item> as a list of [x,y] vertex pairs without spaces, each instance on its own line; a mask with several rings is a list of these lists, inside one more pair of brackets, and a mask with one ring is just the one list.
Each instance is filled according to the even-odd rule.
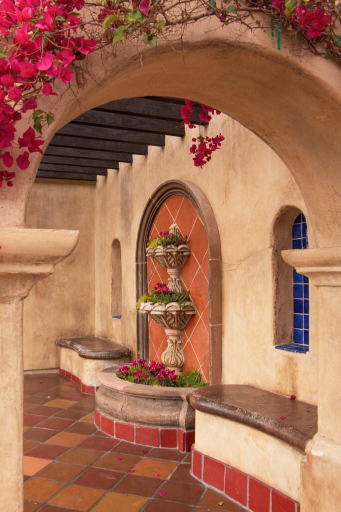
[[55,272],[37,283],[24,303],[24,368],[59,367],[59,336],[94,333],[95,186],[37,179],[26,212],[27,228],[77,229],[79,241]]

